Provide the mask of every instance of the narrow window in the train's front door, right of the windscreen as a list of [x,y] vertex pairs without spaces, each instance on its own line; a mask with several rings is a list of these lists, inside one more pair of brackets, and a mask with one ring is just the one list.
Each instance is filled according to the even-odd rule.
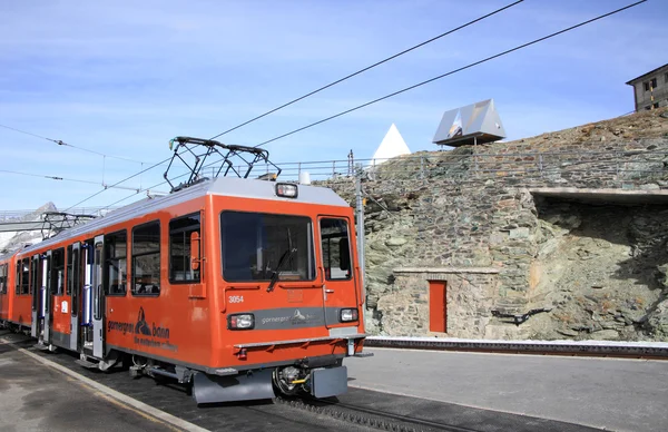
[[322,218],[321,240],[323,267],[327,281],[350,279],[351,242],[345,219]]

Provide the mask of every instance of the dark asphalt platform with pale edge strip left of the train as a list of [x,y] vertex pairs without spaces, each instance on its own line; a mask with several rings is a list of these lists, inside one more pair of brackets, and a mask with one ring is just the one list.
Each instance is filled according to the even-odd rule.
[[0,431],[205,431],[45,365],[20,347],[33,343],[22,335],[0,335]]

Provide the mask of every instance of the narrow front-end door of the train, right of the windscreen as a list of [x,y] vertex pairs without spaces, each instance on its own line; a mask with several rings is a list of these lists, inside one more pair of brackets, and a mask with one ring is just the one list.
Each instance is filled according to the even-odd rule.
[[[350,223],[343,217],[321,216],[321,277],[324,279],[325,325],[356,325],[360,320],[354,267],[351,257]],[[355,312],[356,311],[356,312]]]

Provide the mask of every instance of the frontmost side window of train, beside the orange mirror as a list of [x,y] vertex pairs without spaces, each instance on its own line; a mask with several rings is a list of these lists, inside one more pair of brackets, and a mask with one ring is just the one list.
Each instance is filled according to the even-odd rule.
[[199,214],[169,220],[169,282],[193,283],[199,282],[200,271],[193,269],[190,259],[190,237],[199,233]]

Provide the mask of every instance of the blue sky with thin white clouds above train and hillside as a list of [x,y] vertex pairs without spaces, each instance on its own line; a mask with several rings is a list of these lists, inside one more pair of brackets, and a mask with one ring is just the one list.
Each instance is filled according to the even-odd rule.
[[[175,136],[209,138],[511,2],[3,1],[0,124],[147,167]],[[525,0],[220,140],[256,145],[629,2]],[[411,150],[435,150],[443,111],[488,98],[509,139],[616,117],[633,108],[625,82],[666,63],[666,17],[668,1],[650,0],[266,148],[275,163],[370,158],[394,122]],[[96,183],[0,171],[0,210],[65,209],[141,167],[0,128],[0,170]],[[130,195],[107,189],[80,206]]]

